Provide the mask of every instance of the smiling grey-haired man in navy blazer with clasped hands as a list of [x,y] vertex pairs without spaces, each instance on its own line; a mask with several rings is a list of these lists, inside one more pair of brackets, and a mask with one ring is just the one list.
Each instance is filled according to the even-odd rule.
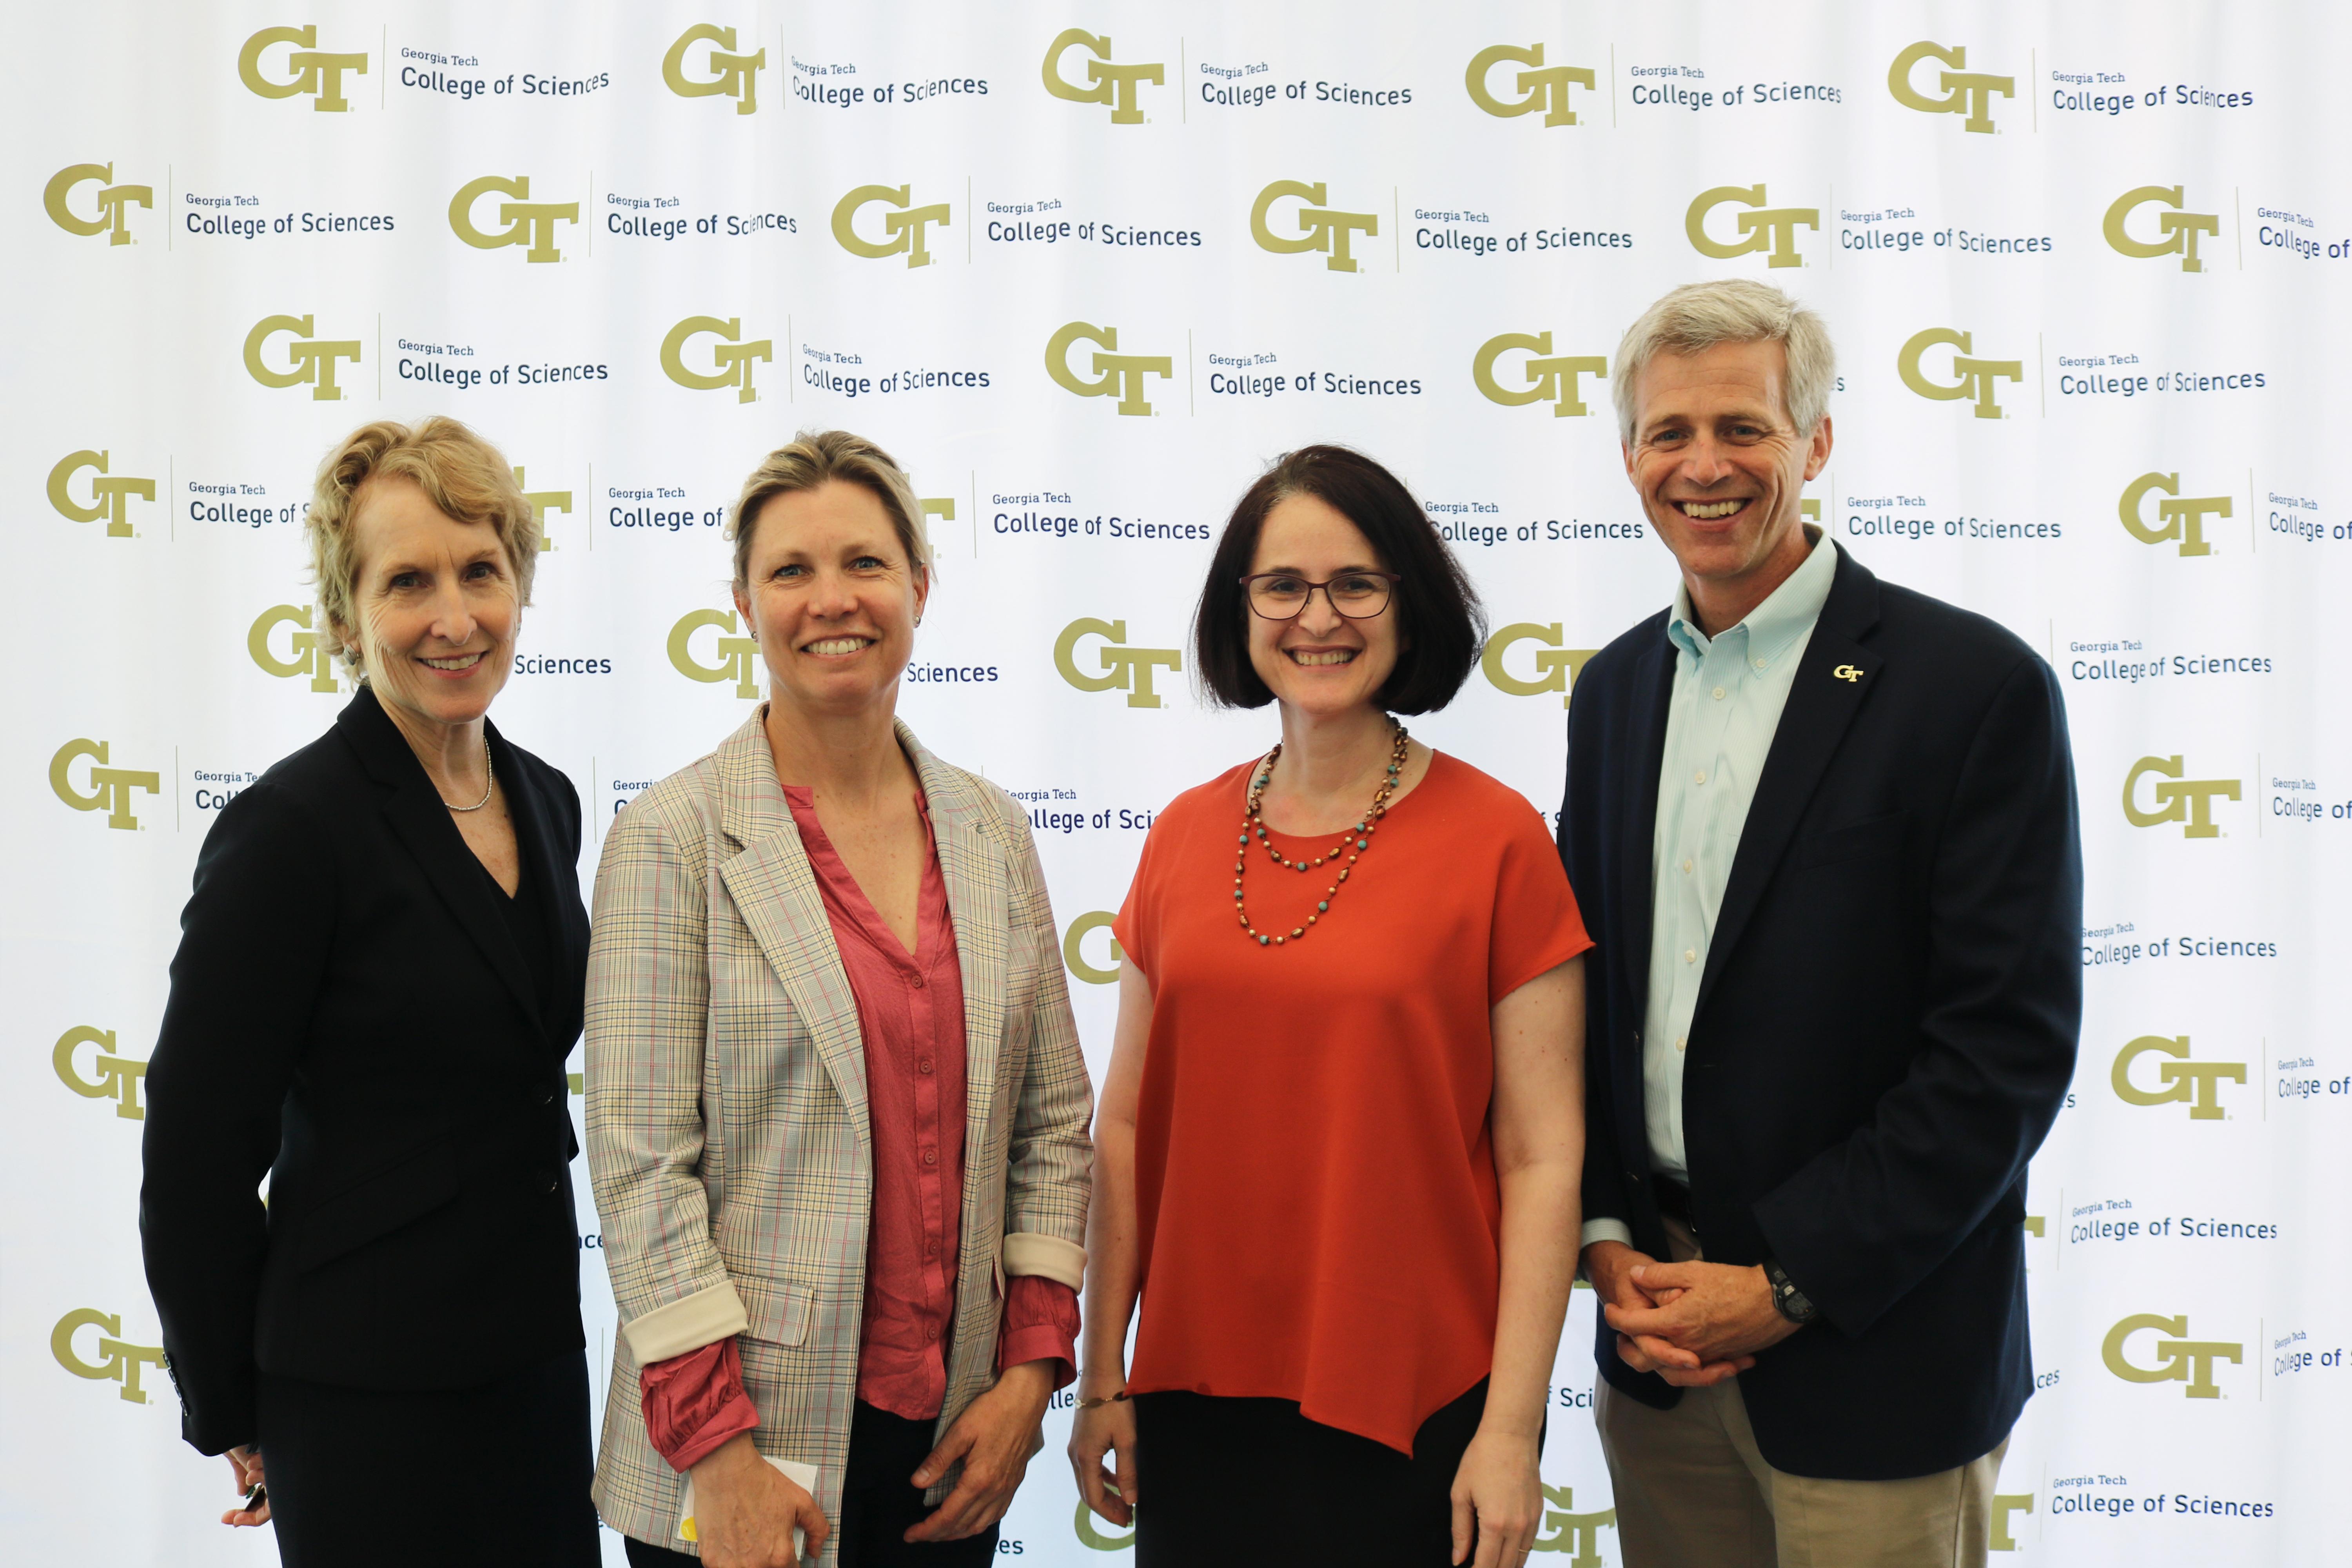
[[1559,816],[1630,1568],[1983,1563],[2032,1389],[2025,1161],[2082,1018],[2065,712],[2018,637],[1804,524],[1832,371],[1738,280],[1613,367],[1682,578],[1576,682]]

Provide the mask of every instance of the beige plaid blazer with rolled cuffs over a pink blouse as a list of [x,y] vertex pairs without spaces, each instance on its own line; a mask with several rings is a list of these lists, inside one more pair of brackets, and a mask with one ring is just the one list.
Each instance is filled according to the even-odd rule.
[[[760,1450],[816,1465],[816,1502],[840,1521],[866,1302],[863,1039],[764,715],[614,820],[588,947],[588,1168],[623,1324],[595,1502],[616,1530],[689,1554],[684,1476],[647,1439],[637,1368],[739,1335]],[[1080,1284],[1094,1093],[1028,816],[906,724],[898,745],[929,799],[964,973],[946,1432],[995,1382],[1004,1276]]]

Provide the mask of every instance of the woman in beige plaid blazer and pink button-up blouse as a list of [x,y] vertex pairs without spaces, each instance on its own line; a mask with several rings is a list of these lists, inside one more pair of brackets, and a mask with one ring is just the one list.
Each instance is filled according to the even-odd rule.
[[623,1319],[595,1500],[637,1566],[781,1568],[795,1535],[983,1563],[1087,1260],[1054,912],[1021,806],[894,717],[931,583],[898,465],[804,435],[734,545],[769,701],[621,813],[595,884],[588,1161]]

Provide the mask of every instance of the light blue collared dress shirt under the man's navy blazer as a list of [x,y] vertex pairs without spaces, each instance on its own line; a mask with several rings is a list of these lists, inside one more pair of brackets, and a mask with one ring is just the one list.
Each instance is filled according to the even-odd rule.
[[[1811,534],[1811,529],[1806,529]],[[1642,1119],[1658,1175],[1691,1178],[1682,1147],[1682,1063],[1708,973],[1708,943],[1724,905],[1748,804],[1771,752],[1790,679],[1837,576],[1837,541],[1820,536],[1748,618],[1708,637],[1689,588],[1675,588],[1665,625],[1675,644],[1675,693],[1658,764],[1658,827],[1651,835],[1649,1009],[1642,1018]],[[1632,1241],[1623,1220],[1588,1220],[1585,1244]]]

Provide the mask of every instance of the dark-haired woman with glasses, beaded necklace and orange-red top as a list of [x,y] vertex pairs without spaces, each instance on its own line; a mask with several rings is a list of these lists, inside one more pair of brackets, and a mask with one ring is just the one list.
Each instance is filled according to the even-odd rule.
[[1225,524],[1195,668],[1282,743],[1152,823],[1096,1119],[1070,1462],[1138,1568],[1519,1568],[1543,1519],[1592,943],[1536,809],[1390,717],[1477,651],[1371,458],[1294,451]]

